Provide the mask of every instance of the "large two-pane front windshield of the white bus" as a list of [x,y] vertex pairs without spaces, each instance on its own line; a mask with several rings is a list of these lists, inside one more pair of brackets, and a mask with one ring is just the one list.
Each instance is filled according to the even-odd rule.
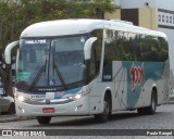
[[29,88],[65,87],[85,80],[86,36],[21,39],[16,84]]

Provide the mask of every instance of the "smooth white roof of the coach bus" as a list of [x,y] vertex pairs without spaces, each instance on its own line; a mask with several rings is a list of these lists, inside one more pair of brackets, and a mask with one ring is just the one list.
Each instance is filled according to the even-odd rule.
[[166,38],[161,31],[150,30],[144,27],[138,27],[129,22],[124,21],[105,21],[105,20],[58,20],[33,24],[24,29],[21,38],[30,37],[55,37],[65,35],[86,34],[94,29],[115,29],[138,34],[148,34]]

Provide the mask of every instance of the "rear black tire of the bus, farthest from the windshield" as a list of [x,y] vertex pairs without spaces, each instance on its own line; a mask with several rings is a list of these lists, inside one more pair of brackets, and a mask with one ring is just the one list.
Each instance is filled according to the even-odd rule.
[[139,114],[152,115],[157,110],[157,93],[152,91],[150,106],[137,109]]

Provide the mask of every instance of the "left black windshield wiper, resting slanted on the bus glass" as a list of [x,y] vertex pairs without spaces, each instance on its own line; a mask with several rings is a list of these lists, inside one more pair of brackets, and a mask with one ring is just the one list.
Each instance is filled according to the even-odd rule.
[[37,85],[37,83],[38,83],[38,80],[39,80],[39,78],[40,78],[40,76],[41,76],[42,73],[46,74],[46,66],[47,66],[47,59],[46,59],[46,63],[40,66],[37,75],[36,75],[35,78],[33,79],[29,88],[35,87],[35,86]]

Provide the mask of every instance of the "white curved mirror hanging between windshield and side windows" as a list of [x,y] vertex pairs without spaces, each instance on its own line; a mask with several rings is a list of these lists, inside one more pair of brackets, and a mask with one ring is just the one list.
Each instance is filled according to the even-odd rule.
[[89,59],[90,59],[91,47],[92,47],[92,43],[94,43],[96,40],[97,40],[97,37],[91,37],[91,38],[89,38],[89,39],[85,42],[85,47],[84,47],[85,60],[89,60]]

